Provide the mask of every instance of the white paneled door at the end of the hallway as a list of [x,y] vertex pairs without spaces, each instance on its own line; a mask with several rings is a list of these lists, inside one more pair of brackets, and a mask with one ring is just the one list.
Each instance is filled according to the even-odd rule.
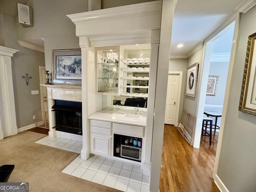
[[179,74],[168,75],[168,86],[165,106],[165,124],[175,124],[176,119],[176,104],[178,98]]

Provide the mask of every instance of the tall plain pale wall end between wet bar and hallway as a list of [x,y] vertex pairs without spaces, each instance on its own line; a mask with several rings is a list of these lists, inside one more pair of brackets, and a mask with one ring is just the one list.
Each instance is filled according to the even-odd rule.
[[162,0],[162,19],[157,64],[155,114],[152,138],[150,192],[159,191],[173,14],[174,0]]

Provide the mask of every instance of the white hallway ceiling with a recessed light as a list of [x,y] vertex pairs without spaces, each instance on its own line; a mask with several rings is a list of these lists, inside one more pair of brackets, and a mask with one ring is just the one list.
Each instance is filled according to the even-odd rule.
[[[203,42],[244,0],[178,0],[172,27],[171,56],[188,56]],[[178,44],[184,44],[177,48]]]

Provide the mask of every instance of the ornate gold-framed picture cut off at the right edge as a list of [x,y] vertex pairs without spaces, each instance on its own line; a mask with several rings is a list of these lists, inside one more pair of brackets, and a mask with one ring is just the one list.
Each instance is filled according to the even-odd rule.
[[244,75],[238,110],[256,115],[256,56],[254,56],[256,33],[248,36]]

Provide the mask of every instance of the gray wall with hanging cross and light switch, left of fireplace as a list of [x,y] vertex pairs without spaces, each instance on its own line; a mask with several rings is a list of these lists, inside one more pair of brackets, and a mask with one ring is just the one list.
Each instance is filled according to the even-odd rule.
[[[32,90],[40,91],[39,67],[44,66],[44,53],[24,48],[17,42],[16,20],[7,14],[2,14],[1,46],[17,49],[19,52],[12,57],[12,77],[14,84],[14,100],[16,108],[17,127],[34,123],[33,112],[41,107],[40,94],[31,94]],[[32,76],[29,86],[21,76],[28,73]]]

